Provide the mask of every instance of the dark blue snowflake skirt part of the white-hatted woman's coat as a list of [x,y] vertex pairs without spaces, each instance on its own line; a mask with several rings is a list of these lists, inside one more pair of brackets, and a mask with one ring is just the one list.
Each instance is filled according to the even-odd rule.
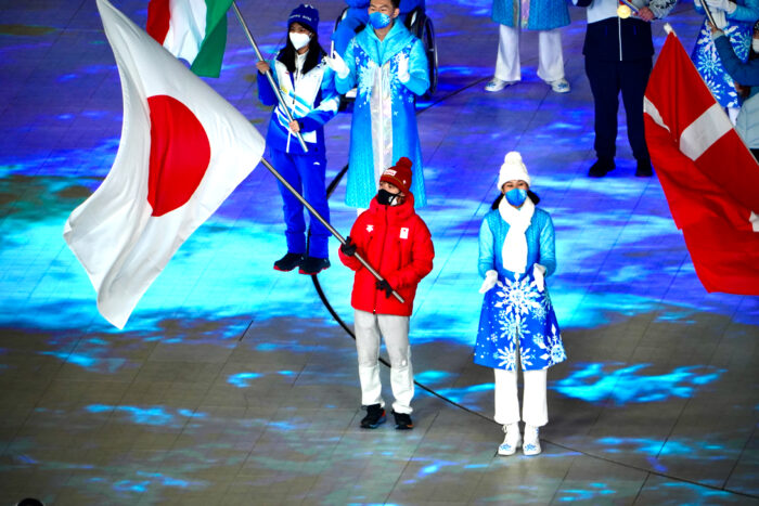
[[548,288],[529,273],[499,275],[485,293],[474,362],[492,368],[538,371],[564,362],[562,335]]

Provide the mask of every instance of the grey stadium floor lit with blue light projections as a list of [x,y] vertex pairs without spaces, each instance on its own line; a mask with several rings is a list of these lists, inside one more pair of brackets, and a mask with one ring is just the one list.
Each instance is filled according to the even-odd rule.
[[[271,270],[284,239],[262,168],[182,246],[124,332],[105,324],[62,230],[118,145],[113,56],[94,2],[0,0],[1,503],[759,502],[759,301],[704,291],[657,180],[632,176],[623,128],[618,169],[586,178],[583,12],[573,9],[564,33],[571,93],[538,80],[526,34],[525,81],[486,94],[490,2],[429,3],[441,83],[420,115],[422,216],[437,257],[412,319],[414,367],[468,411],[420,390],[415,429],[396,432],[358,429],[352,341],[308,277]],[[146,2],[115,4],[144,23]],[[240,4],[271,51],[290,2]],[[342,5],[320,2],[322,39]],[[211,85],[263,131],[253,51],[232,22]],[[690,49],[692,5],[671,22]],[[657,24],[658,47],[661,33]],[[349,121],[327,127],[330,178],[346,163]],[[471,359],[476,233],[510,150],[523,153],[557,229],[550,287],[569,361],[549,375],[539,457],[494,455],[491,373]],[[344,192],[332,212],[347,233]],[[350,323],[351,276],[332,260],[320,282]]]

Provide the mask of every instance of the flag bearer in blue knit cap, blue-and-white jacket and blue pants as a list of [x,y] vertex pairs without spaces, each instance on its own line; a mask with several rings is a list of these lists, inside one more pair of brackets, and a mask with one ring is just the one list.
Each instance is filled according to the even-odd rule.
[[[267,134],[271,163],[296,191],[303,192],[316,211],[329,221],[330,208],[324,186],[324,124],[337,114],[339,95],[335,90],[334,73],[323,61],[325,52],[319,44],[318,27],[319,11],[308,4],[297,7],[287,20],[285,47],[272,62],[258,62],[256,68],[259,100],[263,105],[276,105]],[[265,76],[270,69],[294,118],[292,122]],[[296,132],[303,135],[308,152],[304,152]],[[287,254],[274,262],[274,269],[292,271],[299,268],[301,274],[317,274],[330,267],[330,232],[311,217],[311,237],[307,251],[304,206],[282,183],[279,186]]]

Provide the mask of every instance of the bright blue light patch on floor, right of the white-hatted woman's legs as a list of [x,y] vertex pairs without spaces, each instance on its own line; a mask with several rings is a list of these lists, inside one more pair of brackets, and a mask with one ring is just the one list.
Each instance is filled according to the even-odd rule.
[[677,367],[668,374],[646,375],[651,364],[623,366],[620,363],[576,364],[567,377],[550,388],[562,394],[591,403],[612,400],[617,405],[686,399],[696,388],[719,379],[725,369],[712,366]]

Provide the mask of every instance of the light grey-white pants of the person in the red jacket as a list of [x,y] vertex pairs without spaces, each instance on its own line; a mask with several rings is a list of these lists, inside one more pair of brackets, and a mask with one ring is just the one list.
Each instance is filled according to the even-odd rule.
[[390,356],[390,387],[393,388],[393,410],[410,414],[411,399],[414,397],[414,372],[411,367],[409,346],[409,316],[395,314],[373,314],[356,310],[356,350],[359,355],[359,380],[361,381],[361,404],[385,405],[380,382],[380,340],[385,338],[385,348]]

